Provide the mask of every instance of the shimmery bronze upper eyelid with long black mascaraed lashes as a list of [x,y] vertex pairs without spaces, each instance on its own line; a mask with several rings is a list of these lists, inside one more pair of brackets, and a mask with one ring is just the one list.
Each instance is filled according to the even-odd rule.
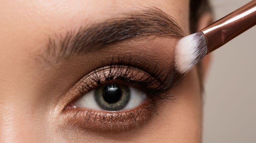
[[[164,94],[167,90],[172,88],[175,83],[173,81],[174,73],[170,76],[171,71],[169,71],[167,75],[163,75],[161,71],[155,70],[151,74],[143,74],[143,76],[138,79],[136,78],[138,71],[134,73],[135,70],[139,69],[126,65],[109,65],[94,70],[87,76],[90,77],[91,74],[94,74],[94,76],[90,77],[90,82],[83,82],[81,85],[80,93],[85,94],[101,85],[120,82],[120,84],[128,84],[129,86],[135,85],[136,88],[144,90],[144,92],[155,100],[174,100],[172,98],[173,96],[166,96],[166,94]],[[105,71],[109,73],[104,74],[104,79],[101,79],[101,74],[106,73]],[[142,72],[145,73],[145,71]]]

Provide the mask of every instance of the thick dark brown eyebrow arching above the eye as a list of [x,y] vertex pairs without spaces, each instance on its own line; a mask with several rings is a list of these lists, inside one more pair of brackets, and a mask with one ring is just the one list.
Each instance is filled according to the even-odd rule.
[[47,63],[57,63],[74,55],[94,52],[131,38],[184,36],[177,20],[156,7],[120,15],[120,18],[80,27],[78,31],[69,31],[59,38],[49,38],[46,52],[40,57]]

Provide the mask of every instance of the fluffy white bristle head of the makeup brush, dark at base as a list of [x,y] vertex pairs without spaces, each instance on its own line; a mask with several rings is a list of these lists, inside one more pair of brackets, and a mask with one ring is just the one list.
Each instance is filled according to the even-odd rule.
[[175,49],[174,62],[177,71],[181,74],[187,73],[207,53],[207,42],[202,32],[183,37]]

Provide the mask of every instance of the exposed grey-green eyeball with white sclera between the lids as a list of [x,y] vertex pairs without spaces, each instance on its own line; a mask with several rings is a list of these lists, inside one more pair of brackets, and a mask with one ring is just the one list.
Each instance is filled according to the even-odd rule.
[[138,107],[147,100],[142,90],[127,85],[109,84],[84,94],[74,105],[105,111],[123,111]]

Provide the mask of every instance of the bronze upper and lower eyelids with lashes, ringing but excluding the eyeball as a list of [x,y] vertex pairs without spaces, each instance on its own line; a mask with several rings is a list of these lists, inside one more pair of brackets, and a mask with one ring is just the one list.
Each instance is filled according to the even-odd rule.
[[[113,64],[98,68],[78,81],[76,84],[78,88],[76,90],[79,91],[79,96],[75,97],[72,100],[73,102],[64,108],[63,114],[71,117],[67,123],[69,126],[82,128],[83,130],[108,131],[108,129],[111,129],[111,132],[113,132],[129,130],[135,127],[138,128],[150,116],[154,114],[157,116],[155,106],[157,103],[161,103],[161,100],[171,100],[174,102],[175,98],[165,93],[177,82],[175,81],[175,75],[176,73],[172,69],[169,69],[167,74],[163,74],[163,71],[159,70],[147,73],[144,70],[124,64]],[[127,84],[129,86],[135,86],[144,90],[151,98],[151,101],[143,103],[133,111],[127,112],[104,113],[104,111],[96,112],[90,109],[74,108],[72,103],[83,96],[83,94],[106,84]],[[90,126],[88,123],[93,125]]]

